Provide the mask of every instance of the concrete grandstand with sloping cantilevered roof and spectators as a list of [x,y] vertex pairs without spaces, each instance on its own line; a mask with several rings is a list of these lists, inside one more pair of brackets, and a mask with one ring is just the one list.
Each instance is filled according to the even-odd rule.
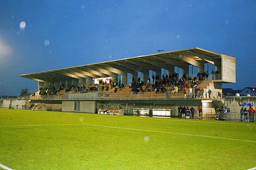
[[[207,116],[224,105],[222,83],[236,82],[236,59],[189,48],[20,77],[38,81],[29,101],[47,109],[115,113],[122,108],[123,114],[177,116],[179,105],[201,105]],[[121,107],[111,109],[116,105]]]

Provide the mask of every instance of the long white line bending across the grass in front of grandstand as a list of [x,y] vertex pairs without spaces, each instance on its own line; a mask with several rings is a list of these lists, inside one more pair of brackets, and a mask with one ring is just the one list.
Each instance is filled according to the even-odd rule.
[[116,129],[138,130],[138,131],[156,132],[156,133],[168,133],[168,134],[185,135],[185,136],[199,136],[199,137],[214,138],[214,139],[226,139],[226,140],[234,140],[234,141],[256,143],[256,141],[243,140],[243,139],[223,138],[223,137],[216,137],[216,136],[204,136],[204,135],[187,134],[187,133],[165,132],[165,131],[157,131],[157,130],[134,129],[134,128],[127,128],[127,127],[114,127],[114,126],[104,126],[104,125],[93,125],[93,124],[87,124],[87,123],[83,123],[83,124],[56,124],[56,125],[54,125],[54,124],[52,124],[52,125],[6,125],[6,126],[0,126],[0,127],[74,126],[74,125],[89,125],[89,126],[108,127],[108,128],[116,128]]

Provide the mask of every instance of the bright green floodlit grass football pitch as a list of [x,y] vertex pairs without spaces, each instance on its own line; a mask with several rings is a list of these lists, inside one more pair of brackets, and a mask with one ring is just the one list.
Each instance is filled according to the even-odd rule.
[[255,134],[256,124],[245,122],[0,109],[0,164],[20,170],[241,170],[256,167]]

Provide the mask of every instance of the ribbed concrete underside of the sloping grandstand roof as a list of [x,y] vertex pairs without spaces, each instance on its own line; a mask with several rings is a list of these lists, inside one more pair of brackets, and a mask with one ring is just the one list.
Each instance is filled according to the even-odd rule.
[[214,61],[221,61],[221,55],[196,47],[19,76],[38,82],[64,82],[71,79],[108,77],[109,75],[122,74],[123,72],[143,72],[145,69],[154,71],[154,68],[164,68],[168,70],[170,66],[181,68],[184,65],[194,65],[199,67],[204,63],[214,64]]

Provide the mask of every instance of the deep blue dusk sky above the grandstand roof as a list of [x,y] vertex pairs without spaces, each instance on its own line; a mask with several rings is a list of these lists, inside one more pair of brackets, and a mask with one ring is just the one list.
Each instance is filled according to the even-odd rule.
[[236,57],[255,87],[256,1],[0,0],[0,96],[37,89],[20,74],[200,47]]

